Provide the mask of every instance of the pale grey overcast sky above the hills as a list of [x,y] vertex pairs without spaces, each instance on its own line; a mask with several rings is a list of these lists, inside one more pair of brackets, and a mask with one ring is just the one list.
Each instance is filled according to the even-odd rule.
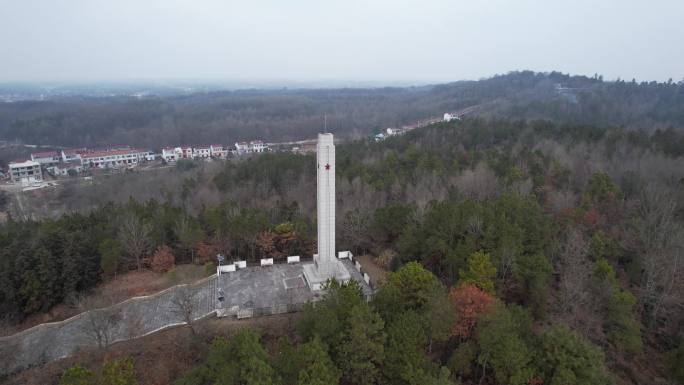
[[682,0],[0,0],[0,81],[684,77]]

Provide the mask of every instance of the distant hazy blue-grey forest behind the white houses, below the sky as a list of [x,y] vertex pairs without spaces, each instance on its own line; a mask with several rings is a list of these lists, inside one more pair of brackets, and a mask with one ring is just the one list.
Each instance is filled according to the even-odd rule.
[[[0,103],[0,139],[49,146],[232,144],[373,130],[477,106],[478,114],[625,126],[684,125],[684,84],[518,71],[416,87],[211,91],[144,98],[62,96]],[[10,159],[11,160],[11,159]]]

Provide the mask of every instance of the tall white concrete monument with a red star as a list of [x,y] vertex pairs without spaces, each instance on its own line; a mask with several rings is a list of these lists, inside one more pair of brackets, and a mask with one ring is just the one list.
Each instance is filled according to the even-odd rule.
[[344,283],[351,276],[337,259],[335,250],[335,145],[332,134],[318,134],[316,159],[318,254],[314,255],[313,264],[304,266],[304,278],[312,290],[321,290],[330,278]]

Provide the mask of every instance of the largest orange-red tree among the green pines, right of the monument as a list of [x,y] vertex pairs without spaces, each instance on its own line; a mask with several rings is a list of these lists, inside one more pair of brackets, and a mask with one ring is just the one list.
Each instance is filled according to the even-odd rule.
[[492,295],[469,284],[452,288],[449,299],[456,310],[456,323],[451,328],[451,334],[464,340],[470,337],[477,324],[477,318],[486,313],[496,301]]

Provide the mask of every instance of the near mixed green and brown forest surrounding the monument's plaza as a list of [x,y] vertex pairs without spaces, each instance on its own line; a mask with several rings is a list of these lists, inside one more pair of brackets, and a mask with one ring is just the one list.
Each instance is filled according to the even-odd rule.
[[[682,155],[676,129],[494,117],[341,144],[337,242],[387,282],[370,303],[332,283],[290,340],[219,336],[174,380],[684,383]],[[20,322],[116,274],[211,266],[218,252],[310,255],[314,171],[312,155],[285,153],[186,164],[157,191],[10,219],[0,313]],[[134,362],[105,366],[61,381],[135,381]]]

